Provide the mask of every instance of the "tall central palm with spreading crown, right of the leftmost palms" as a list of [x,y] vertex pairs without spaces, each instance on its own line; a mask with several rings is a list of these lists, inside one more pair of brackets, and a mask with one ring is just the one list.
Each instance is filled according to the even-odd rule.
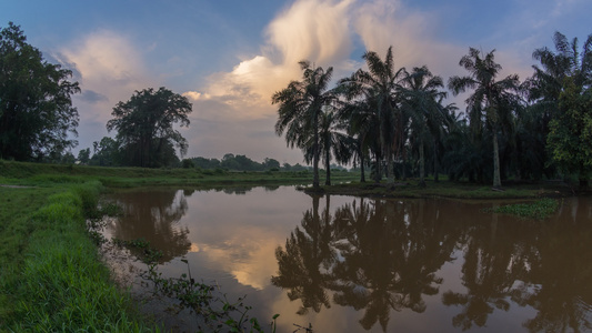
[[394,182],[393,150],[403,141],[401,112],[398,110],[399,77],[403,69],[394,70],[392,47],[387,51],[384,60],[377,52],[368,51],[362,57],[368,71],[358,70],[350,78],[340,80],[348,100],[364,98],[374,100],[381,155],[387,159],[387,178]]

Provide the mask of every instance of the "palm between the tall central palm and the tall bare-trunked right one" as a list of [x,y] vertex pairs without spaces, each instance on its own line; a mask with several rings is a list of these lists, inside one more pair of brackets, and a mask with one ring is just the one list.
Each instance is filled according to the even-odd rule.
[[442,78],[433,75],[425,65],[413,68],[411,73],[404,71],[403,75],[403,109],[409,111],[412,131],[419,139],[420,186],[425,186],[424,145],[431,134],[439,131],[443,121],[439,101],[445,97],[445,92],[438,89],[443,88],[444,82]]

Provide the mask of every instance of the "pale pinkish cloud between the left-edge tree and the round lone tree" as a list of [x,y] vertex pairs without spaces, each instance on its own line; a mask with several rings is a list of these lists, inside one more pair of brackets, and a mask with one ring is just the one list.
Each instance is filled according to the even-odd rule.
[[151,87],[141,52],[130,38],[114,31],[80,36],[54,52],[53,58],[72,69],[80,83],[82,93],[74,95],[73,102],[80,114],[81,149],[109,135],[106,123],[117,102]]

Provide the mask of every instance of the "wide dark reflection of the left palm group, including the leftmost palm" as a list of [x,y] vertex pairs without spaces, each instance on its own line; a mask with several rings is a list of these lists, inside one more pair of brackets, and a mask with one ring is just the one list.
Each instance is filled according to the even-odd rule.
[[424,230],[435,223],[408,223],[414,204],[361,199],[359,205],[354,201],[338,209],[331,219],[329,201],[322,218],[315,218],[315,199],[313,213],[304,213],[303,231],[297,228],[285,251],[277,251],[280,271],[273,284],[290,289],[290,300],[302,300],[299,313],[309,307],[319,312],[321,304],[329,307],[331,290],[334,303],[365,309],[360,324],[367,330],[380,322],[385,331],[391,309],[423,312],[422,294],[438,293],[442,280],[434,272],[450,260],[455,239],[446,239],[441,230]]

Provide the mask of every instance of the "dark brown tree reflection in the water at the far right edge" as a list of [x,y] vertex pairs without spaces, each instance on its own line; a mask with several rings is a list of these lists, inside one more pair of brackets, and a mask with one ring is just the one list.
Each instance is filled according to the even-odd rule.
[[572,200],[556,221],[541,228],[531,279],[514,292],[519,304],[538,310],[523,324],[530,332],[592,330],[592,211],[589,204],[578,204],[580,200],[584,199]]

